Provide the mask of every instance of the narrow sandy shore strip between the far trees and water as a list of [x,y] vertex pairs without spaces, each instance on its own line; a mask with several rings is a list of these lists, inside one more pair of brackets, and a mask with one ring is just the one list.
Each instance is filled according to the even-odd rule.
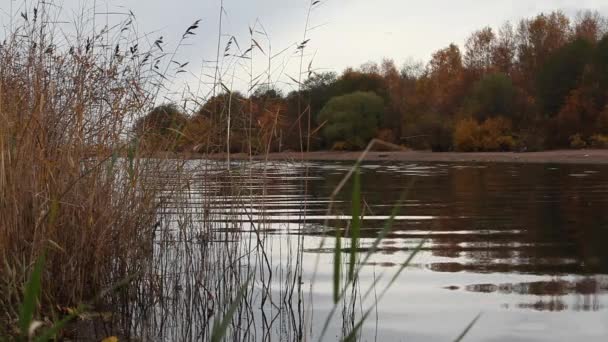
[[[254,156],[254,160],[344,160],[354,161],[361,152],[318,151],[309,153],[280,152],[268,156]],[[225,159],[224,154],[194,155],[193,158]],[[247,160],[246,154],[231,154],[233,160]],[[559,150],[544,152],[430,152],[399,151],[370,152],[367,161],[446,162],[446,163],[555,163],[555,164],[608,164],[608,150]]]

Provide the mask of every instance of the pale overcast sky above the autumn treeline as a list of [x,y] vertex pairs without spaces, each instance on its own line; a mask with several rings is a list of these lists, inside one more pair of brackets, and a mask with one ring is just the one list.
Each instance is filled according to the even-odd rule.
[[[11,10],[18,14],[23,3],[23,0],[0,0],[0,23],[6,27]],[[30,0],[28,6],[32,3]],[[83,8],[96,7],[98,17],[106,16],[99,13],[124,13],[129,9],[136,15],[139,32],[149,33],[151,37],[162,35],[169,50],[192,22],[202,19],[197,35],[178,50],[176,58],[190,62],[189,73],[181,74],[184,75],[181,84],[193,84],[213,69],[209,66],[216,60],[221,0],[63,0],[55,3],[62,6],[65,18],[75,17],[77,9]],[[307,17],[306,39],[310,41],[305,50],[304,69],[312,60],[312,68],[317,71],[341,72],[346,67],[379,62],[384,57],[395,60],[397,65],[408,60],[426,62],[434,51],[452,42],[464,45],[466,38],[477,29],[498,28],[506,21],[517,22],[541,12],[562,10],[574,16],[580,10],[594,10],[608,16],[606,0],[321,0],[308,16],[309,5],[310,0],[224,0],[222,51],[231,36],[236,38],[241,50],[247,49],[251,26],[265,31],[266,35],[255,33],[263,53],[256,49],[253,61],[223,59],[222,81],[234,88],[246,89],[250,74],[261,75],[268,70],[267,55],[285,49],[270,61],[270,80],[286,91],[293,88],[290,78],[298,79],[300,70],[296,46],[304,40]],[[106,18],[108,16],[110,21],[121,18],[118,14]],[[231,52],[235,49],[233,44]],[[250,72],[252,65],[253,72]]]

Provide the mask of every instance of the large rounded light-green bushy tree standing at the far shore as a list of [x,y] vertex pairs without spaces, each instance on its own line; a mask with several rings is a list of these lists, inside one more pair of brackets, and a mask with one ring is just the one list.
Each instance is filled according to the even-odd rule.
[[322,134],[332,148],[362,149],[376,135],[384,100],[373,92],[354,92],[331,99],[319,115]]

